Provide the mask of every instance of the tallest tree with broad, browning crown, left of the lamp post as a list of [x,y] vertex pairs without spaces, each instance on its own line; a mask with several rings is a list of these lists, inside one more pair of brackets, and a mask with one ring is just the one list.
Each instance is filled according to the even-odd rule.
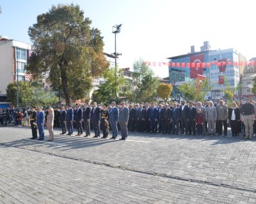
[[26,68],[35,80],[45,78],[54,88],[62,87],[66,104],[81,99],[108,63],[100,30],[90,28],[79,5],[53,5],[37,16],[28,30],[33,53]]

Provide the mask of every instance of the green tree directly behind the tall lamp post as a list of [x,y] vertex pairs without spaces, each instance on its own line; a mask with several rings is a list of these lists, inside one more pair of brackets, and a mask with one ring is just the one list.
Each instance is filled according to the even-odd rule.
[[[113,100],[116,96],[116,88],[115,88],[115,74],[114,69],[107,69],[104,71],[102,77],[106,82],[104,84],[100,84],[98,89],[93,92],[92,98],[93,101],[97,101],[98,103],[108,103]],[[125,95],[121,91],[121,86],[125,84],[125,78],[123,76],[116,78],[117,84],[117,92],[120,96]]]

